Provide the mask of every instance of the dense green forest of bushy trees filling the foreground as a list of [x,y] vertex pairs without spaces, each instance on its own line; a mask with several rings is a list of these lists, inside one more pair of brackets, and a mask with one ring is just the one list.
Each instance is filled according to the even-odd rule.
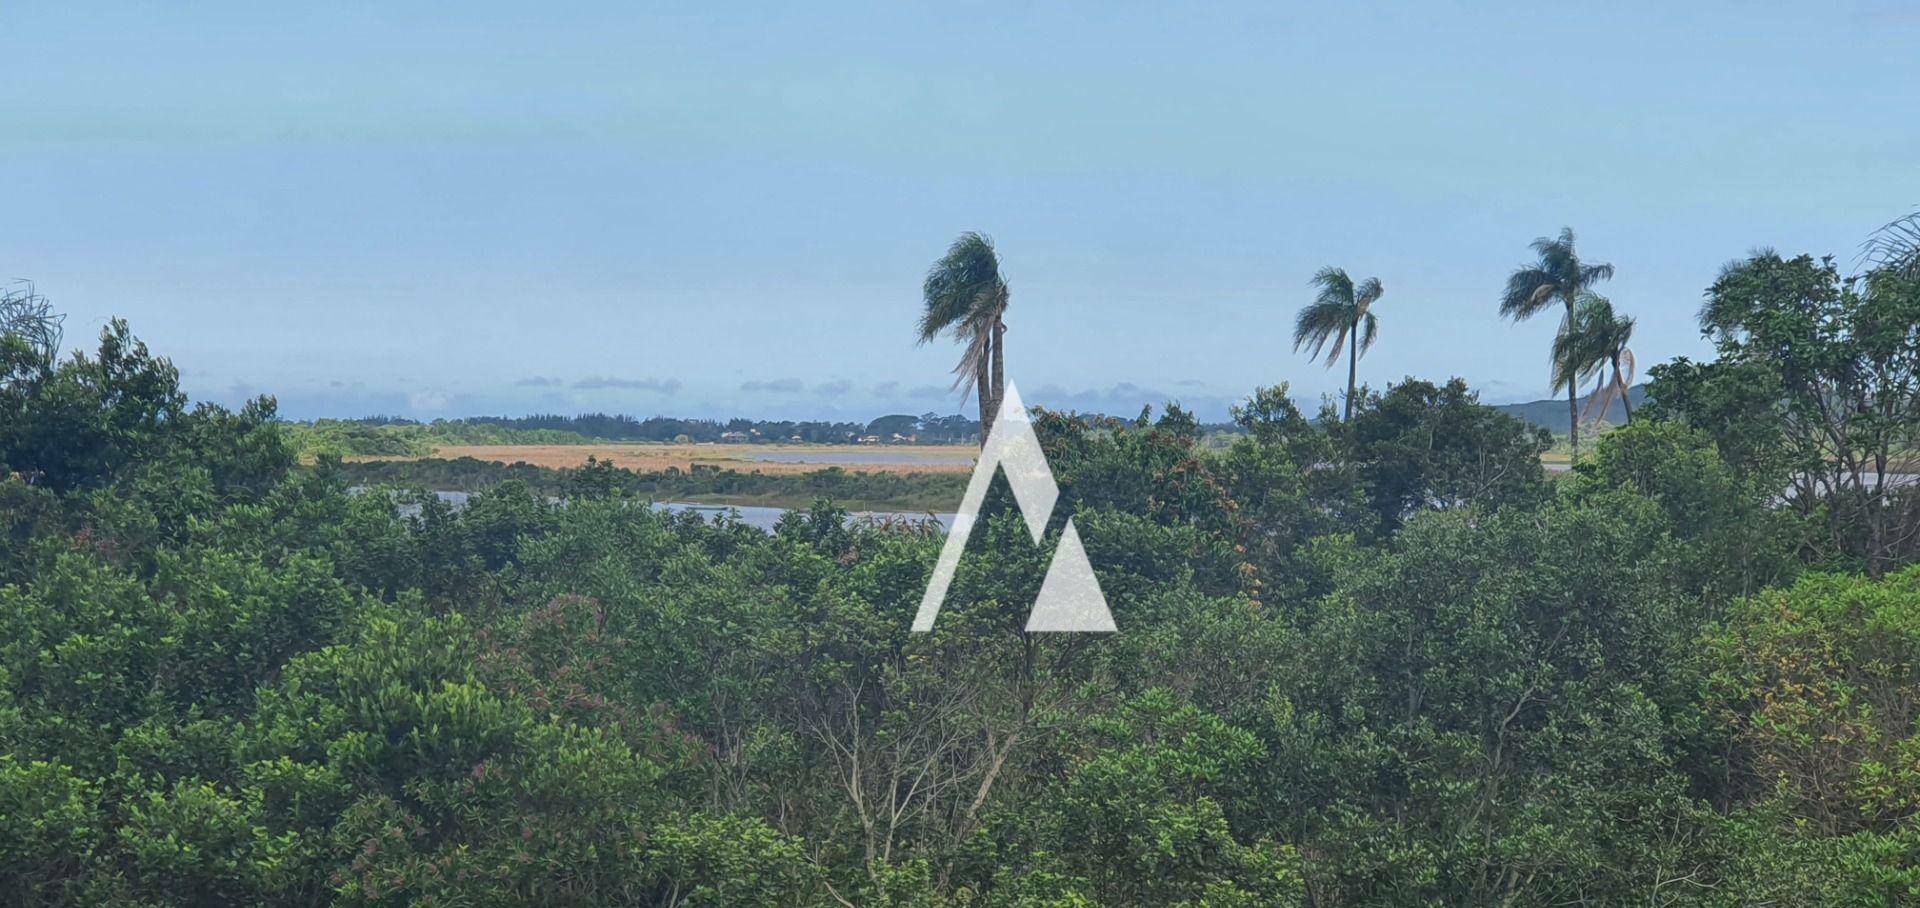
[[[1302,330],[1352,369],[1342,280]],[[1258,388],[1225,445],[1035,411],[1112,635],[1023,632],[1004,478],[910,633],[933,524],[611,468],[403,509],[127,323],[15,328],[6,904],[1920,902],[1910,271],[1728,267],[1567,474],[1457,378]]]

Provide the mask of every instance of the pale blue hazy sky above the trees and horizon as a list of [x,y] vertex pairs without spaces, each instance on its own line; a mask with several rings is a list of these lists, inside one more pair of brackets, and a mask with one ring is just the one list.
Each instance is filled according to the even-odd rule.
[[1544,397],[1498,317],[1571,225],[1647,365],[1747,250],[1920,205],[1920,0],[0,4],[0,278],[290,417],[956,413],[914,344],[962,230],[1033,403]]

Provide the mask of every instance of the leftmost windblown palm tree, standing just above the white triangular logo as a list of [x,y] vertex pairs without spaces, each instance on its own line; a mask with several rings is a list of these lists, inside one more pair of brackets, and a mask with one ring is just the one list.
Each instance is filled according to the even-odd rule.
[[993,240],[968,230],[947,248],[947,255],[927,269],[922,284],[925,309],[920,313],[920,344],[950,332],[966,349],[954,367],[960,395],[979,399],[979,440],[993,434],[993,417],[1006,394],[1006,367],[1000,347],[1006,338],[1008,288],[1000,276],[1000,257]]

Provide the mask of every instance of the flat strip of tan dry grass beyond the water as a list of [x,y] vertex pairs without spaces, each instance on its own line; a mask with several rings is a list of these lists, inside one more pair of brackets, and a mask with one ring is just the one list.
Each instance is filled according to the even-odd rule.
[[[781,457],[822,457],[818,461],[755,461],[753,453],[780,453]],[[839,463],[839,457],[881,455],[893,463]],[[718,466],[724,470],[791,474],[814,472],[826,466],[839,466],[847,472],[968,472],[972,470],[972,447],[958,445],[657,445],[657,443],[605,443],[605,445],[444,445],[430,457],[515,463],[524,461],[534,466],[580,466],[588,457],[612,461],[636,472],[655,472],[668,466],[682,470],[693,465]],[[351,457],[351,461],[415,461],[417,457]],[[968,463],[956,463],[968,461]]]

